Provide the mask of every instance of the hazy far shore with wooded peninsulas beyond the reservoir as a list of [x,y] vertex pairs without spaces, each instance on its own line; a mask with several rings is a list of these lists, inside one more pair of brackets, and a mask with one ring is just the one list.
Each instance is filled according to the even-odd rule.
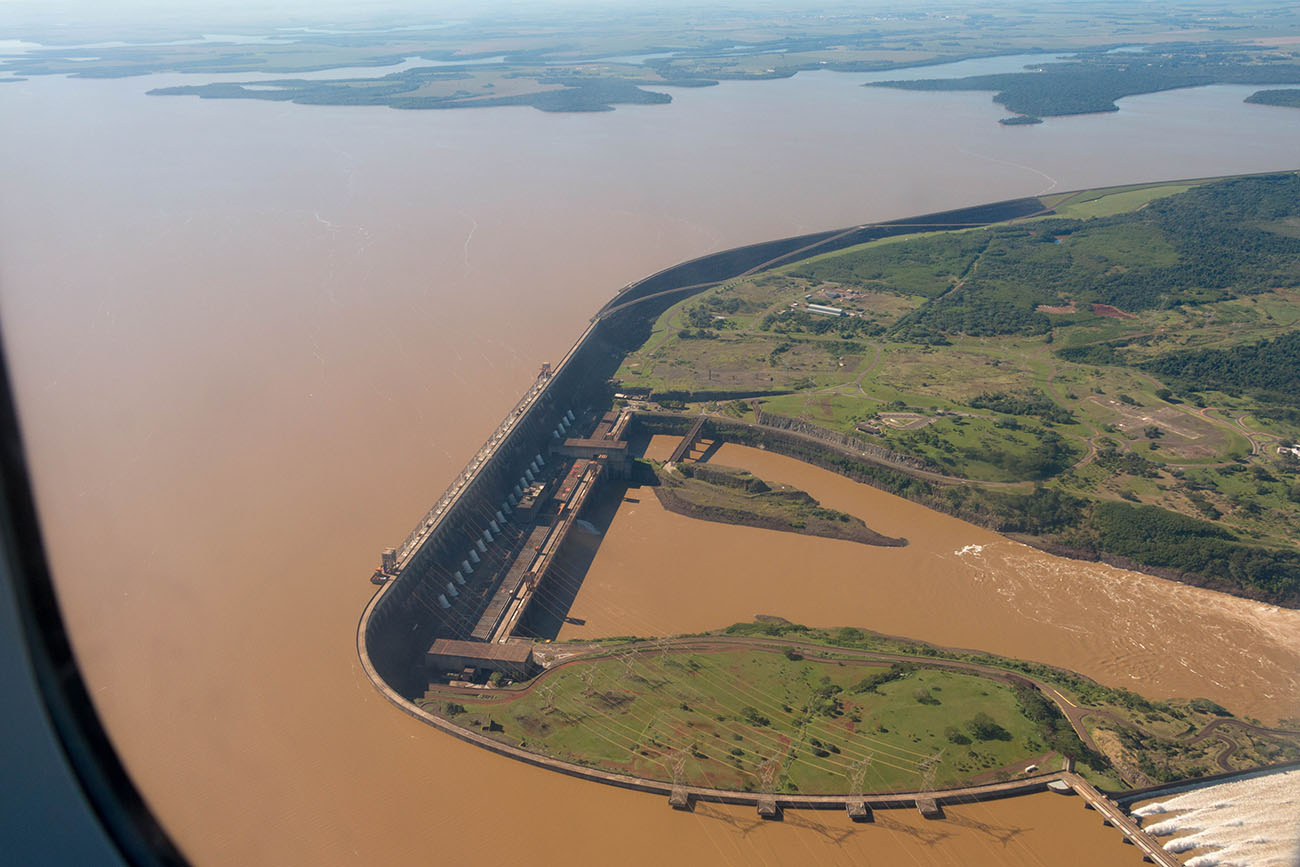
[[[192,84],[155,95],[255,99],[304,105],[450,109],[520,105],[546,112],[664,104],[676,87],[770,81],[803,71],[880,73],[953,61],[1071,55],[1027,73],[897,81],[914,90],[994,90],[1024,120],[1114,110],[1114,100],[1210,83],[1296,83],[1295,48],[1260,40],[1296,32],[1294,10],[1087,4],[1004,5],[932,14],[915,9],[816,6],[760,16],[740,9],[645,10],[636,16],[485,9],[451,21],[273,27],[209,36],[159,22],[122,40],[69,26],[32,25],[35,44],[0,58],[9,77],[121,78],[187,74]],[[1248,16],[1243,18],[1243,14]],[[387,26],[386,26],[387,25]],[[238,30],[235,31],[238,32]],[[1135,45],[1150,45],[1145,52]],[[81,45],[94,45],[94,52]],[[321,74],[338,70],[337,74]],[[246,81],[203,75],[246,74]],[[901,73],[906,75],[906,73]],[[915,75],[915,73],[913,73]],[[1274,97],[1266,97],[1274,99]]]

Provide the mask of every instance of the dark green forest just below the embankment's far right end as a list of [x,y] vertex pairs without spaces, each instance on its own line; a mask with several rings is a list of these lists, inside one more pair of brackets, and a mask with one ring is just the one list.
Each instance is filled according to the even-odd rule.
[[[1236,178],[1110,217],[867,247],[793,274],[928,299],[893,325],[904,341],[1045,334],[1089,316],[1089,304],[1136,312],[1300,286],[1296,216],[1300,177]],[[1040,309],[1071,303],[1078,313]]]

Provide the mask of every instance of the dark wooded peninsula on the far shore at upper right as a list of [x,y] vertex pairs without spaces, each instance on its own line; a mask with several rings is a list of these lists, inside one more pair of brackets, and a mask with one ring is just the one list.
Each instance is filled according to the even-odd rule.
[[1083,53],[1023,73],[890,81],[868,87],[997,91],[1018,114],[1052,117],[1117,112],[1117,99],[1204,84],[1296,84],[1300,64],[1269,48],[1225,43],[1161,45],[1147,52]]

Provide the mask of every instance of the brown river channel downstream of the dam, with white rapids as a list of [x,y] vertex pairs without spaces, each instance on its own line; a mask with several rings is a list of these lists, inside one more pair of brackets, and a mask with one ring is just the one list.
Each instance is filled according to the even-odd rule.
[[[655,437],[664,458],[673,437]],[[699,521],[633,490],[562,638],[716,629],[755,614],[863,627],[1070,668],[1150,698],[1204,695],[1277,720],[1300,707],[1300,611],[1044,554],[783,455],[711,463],[809,491],[901,549]]]

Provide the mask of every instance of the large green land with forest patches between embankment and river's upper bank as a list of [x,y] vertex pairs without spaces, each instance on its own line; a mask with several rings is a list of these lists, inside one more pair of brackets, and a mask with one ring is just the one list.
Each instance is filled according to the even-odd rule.
[[1060,554],[1300,604],[1300,177],[1043,205],[681,300],[620,387]]

